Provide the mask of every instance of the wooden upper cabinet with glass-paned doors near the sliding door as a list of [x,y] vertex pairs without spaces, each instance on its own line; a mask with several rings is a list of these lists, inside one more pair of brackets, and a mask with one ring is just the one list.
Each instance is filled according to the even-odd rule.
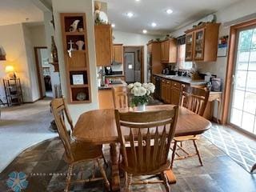
[[186,61],[215,62],[219,23],[204,23],[186,30]]

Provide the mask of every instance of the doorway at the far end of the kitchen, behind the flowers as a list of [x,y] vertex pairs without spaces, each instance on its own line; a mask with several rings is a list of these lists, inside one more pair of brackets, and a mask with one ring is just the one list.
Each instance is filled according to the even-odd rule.
[[144,82],[144,46],[124,46],[126,82]]

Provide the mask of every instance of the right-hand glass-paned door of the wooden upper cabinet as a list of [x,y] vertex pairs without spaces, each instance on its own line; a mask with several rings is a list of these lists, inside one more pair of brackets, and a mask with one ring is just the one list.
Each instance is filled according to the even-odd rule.
[[194,60],[203,60],[205,48],[205,28],[194,31]]

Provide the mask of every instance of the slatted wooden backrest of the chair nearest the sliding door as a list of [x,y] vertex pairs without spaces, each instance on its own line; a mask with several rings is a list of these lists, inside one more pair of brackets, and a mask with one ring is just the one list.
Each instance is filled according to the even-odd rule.
[[202,116],[206,110],[209,94],[210,91],[207,89],[183,86],[180,106]]

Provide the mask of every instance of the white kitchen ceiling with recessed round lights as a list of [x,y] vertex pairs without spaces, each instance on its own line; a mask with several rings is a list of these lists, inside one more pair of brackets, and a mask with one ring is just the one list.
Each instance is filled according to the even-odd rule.
[[[102,0],[107,2],[107,14],[116,30],[149,34],[167,34],[185,23],[194,22],[207,14],[212,14],[239,0]],[[166,10],[173,14],[166,14]],[[133,12],[134,18],[127,18],[127,12]],[[158,26],[151,27],[156,22]]]

